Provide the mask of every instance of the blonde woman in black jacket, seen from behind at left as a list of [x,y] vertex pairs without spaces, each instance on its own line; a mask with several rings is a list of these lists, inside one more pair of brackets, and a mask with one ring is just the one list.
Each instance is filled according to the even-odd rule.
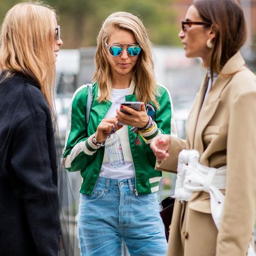
[[0,254],[58,254],[57,165],[52,118],[55,12],[21,3],[4,18],[0,49]]

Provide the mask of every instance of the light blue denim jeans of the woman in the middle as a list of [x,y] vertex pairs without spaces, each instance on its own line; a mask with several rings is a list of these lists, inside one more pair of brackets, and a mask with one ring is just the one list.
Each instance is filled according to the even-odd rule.
[[135,196],[134,188],[134,179],[99,177],[93,194],[81,194],[78,239],[82,256],[120,256],[121,238],[132,256],[166,255],[158,196]]

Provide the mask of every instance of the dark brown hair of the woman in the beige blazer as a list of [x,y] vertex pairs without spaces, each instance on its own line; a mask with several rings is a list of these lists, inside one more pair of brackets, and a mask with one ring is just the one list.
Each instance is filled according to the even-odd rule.
[[216,36],[210,53],[210,71],[211,75],[220,73],[247,38],[243,9],[235,0],[195,0],[193,5],[203,21],[213,24]]

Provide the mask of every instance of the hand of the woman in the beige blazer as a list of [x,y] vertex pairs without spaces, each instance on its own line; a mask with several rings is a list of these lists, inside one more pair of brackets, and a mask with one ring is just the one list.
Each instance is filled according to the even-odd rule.
[[170,147],[170,135],[161,134],[156,136],[150,143],[150,147],[156,156],[157,161],[166,160],[169,156],[167,150]]

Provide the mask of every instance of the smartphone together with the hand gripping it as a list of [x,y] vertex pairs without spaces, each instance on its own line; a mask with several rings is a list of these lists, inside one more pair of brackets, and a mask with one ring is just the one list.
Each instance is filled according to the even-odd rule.
[[122,102],[117,110],[119,125],[130,125],[142,128],[149,121],[144,102]]

